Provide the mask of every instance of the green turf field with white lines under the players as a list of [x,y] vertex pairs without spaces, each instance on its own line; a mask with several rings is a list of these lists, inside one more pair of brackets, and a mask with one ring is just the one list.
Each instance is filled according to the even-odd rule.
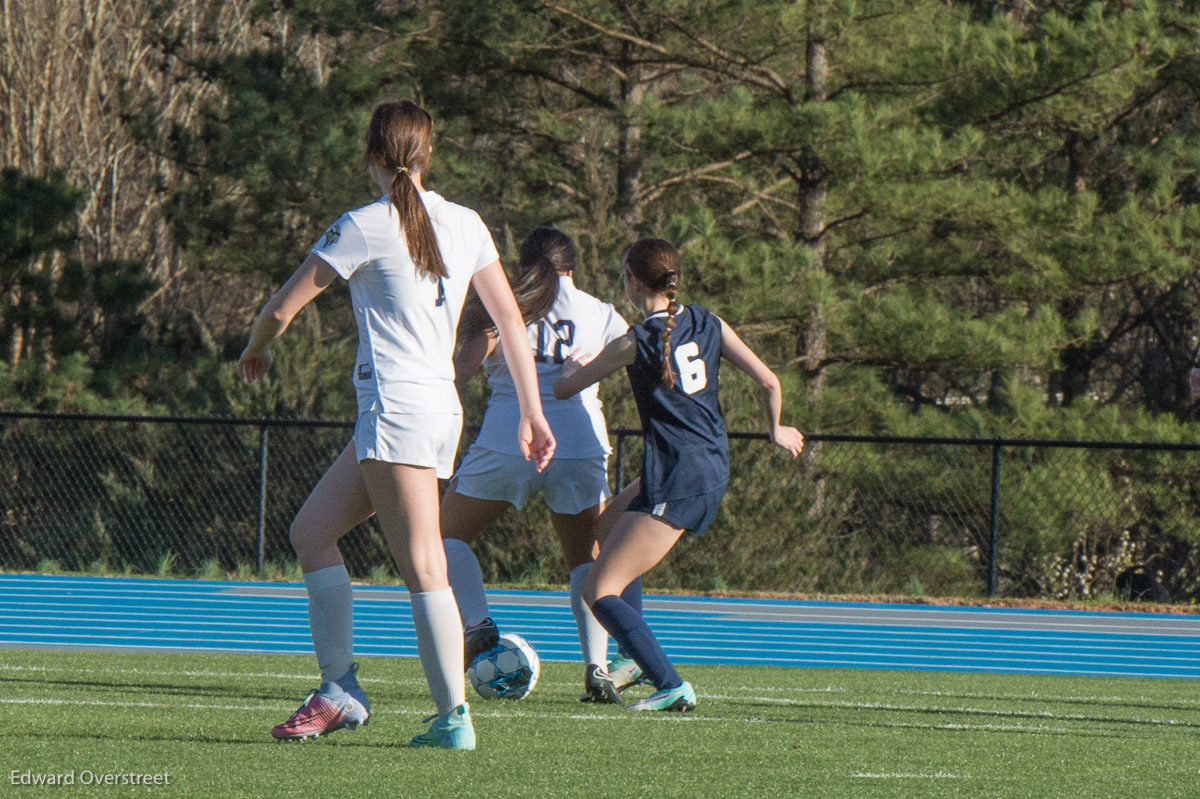
[[0,650],[0,795],[1200,795],[1192,681],[684,666],[700,702],[679,716],[580,704],[581,671],[476,698],[479,750],[449,752],[406,745],[432,710],[415,660],[364,661],[370,726],[277,744],[312,659]]

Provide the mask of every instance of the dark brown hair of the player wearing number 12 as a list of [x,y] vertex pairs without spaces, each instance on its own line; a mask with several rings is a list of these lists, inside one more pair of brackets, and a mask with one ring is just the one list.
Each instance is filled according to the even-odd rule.
[[[558,228],[534,228],[521,242],[517,266],[520,277],[512,286],[512,296],[528,325],[550,313],[558,296],[558,276],[575,271],[575,242]],[[472,296],[463,308],[458,335],[469,338],[492,326],[479,296]]]

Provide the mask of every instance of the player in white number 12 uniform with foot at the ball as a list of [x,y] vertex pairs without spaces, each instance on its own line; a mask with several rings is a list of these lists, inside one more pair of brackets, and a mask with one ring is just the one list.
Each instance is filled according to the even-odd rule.
[[619,695],[604,669],[608,632],[580,594],[592,565],[593,528],[608,498],[608,429],[598,386],[566,401],[554,400],[552,389],[571,353],[599,353],[625,335],[629,325],[611,304],[576,288],[575,244],[562,230],[542,227],[530,233],[521,244],[518,265],[521,275],[514,293],[527,323],[526,348],[538,367],[542,410],[557,449],[540,473],[522,458],[512,434],[520,409],[504,347],[498,344],[487,314],[478,306],[468,306],[458,331],[457,380],[460,386],[466,385],[482,365],[491,396],[479,437],[442,498],[450,585],[466,630],[464,665],[469,666],[499,638],[469,542],[510,507],[520,510],[532,493],[541,492],[570,573],[571,611],[586,666],[581,701],[612,702]]

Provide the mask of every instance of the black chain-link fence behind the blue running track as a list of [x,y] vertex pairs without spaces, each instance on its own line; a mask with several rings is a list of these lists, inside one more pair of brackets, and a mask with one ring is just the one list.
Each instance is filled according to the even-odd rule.
[[[288,524],[352,428],[12,411],[0,423],[0,569],[210,576],[294,564]],[[623,485],[640,471],[641,435],[613,437]],[[733,433],[720,516],[646,584],[1115,599],[1162,585],[1194,601],[1198,450],[812,434],[792,461],[761,434]],[[373,522],[342,549],[356,577],[395,573]],[[490,582],[566,578],[536,500],[476,551]]]

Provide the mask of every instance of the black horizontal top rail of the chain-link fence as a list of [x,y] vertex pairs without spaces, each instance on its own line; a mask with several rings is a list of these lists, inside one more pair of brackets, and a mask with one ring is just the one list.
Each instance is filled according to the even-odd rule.
[[[90,413],[55,413],[48,410],[2,410],[0,419],[41,419],[53,421],[90,421],[90,422],[125,422],[125,423],[149,423],[149,425],[235,425],[244,427],[340,427],[350,429],[353,421],[338,421],[328,419],[278,419],[278,417],[246,417],[246,416],[149,416],[136,414],[90,414]],[[476,428],[478,425],[467,425],[467,429]],[[636,427],[616,427],[608,429],[610,434],[617,437],[641,437],[642,431]],[[736,440],[768,440],[767,433],[730,432],[731,439]],[[916,445],[948,445],[948,446],[990,446],[1001,449],[1020,447],[1055,447],[1055,449],[1085,449],[1085,450],[1160,450],[1160,451],[1200,451],[1200,443],[1184,444],[1174,441],[1099,441],[1079,439],[1051,439],[1051,438],[949,438],[936,435],[865,435],[854,433],[805,433],[806,441],[841,441],[853,444],[916,444]]]

